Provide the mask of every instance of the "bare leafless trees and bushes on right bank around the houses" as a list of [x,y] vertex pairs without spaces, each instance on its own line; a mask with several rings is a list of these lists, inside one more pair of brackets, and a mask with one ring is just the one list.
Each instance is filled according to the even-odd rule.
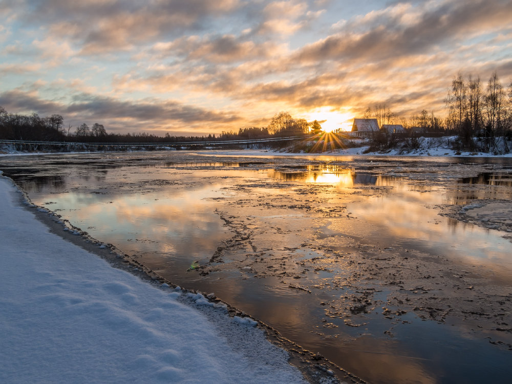
[[[504,86],[496,72],[484,84],[479,76],[454,76],[444,100],[446,117],[426,110],[409,119],[395,114],[386,103],[369,107],[365,118],[382,124],[401,124],[409,134],[456,136],[456,149],[508,153],[512,149],[512,81]],[[382,148],[396,145],[397,137],[376,135]],[[455,148],[454,148],[455,149]]]

